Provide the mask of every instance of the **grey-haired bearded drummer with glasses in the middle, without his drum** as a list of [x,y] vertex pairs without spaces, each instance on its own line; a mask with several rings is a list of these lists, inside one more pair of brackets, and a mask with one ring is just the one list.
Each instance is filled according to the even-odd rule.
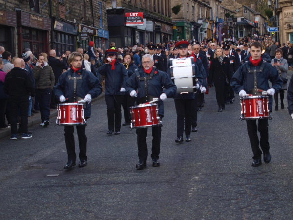
[[[165,100],[166,98],[172,98],[176,94],[176,86],[173,84],[171,78],[160,70],[157,70],[154,67],[153,57],[149,54],[146,54],[142,58],[143,68],[135,70],[135,73],[132,74],[126,82],[126,93],[130,94],[132,97],[137,97],[136,104],[142,104],[150,102],[153,98],[160,98]],[[143,80],[139,80],[139,77]],[[145,80],[146,79],[146,84]],[[163,87],[166,88],[163,92]],[[162,117],[164,115],[163,106],[159,106],[159,115]],[[160,166],[159,163],[159,154],[160,154],[160,145],[161,145],[161,126],[152,127],[152,165],[154,167]],[[137,134],[137,145],[138,145],[138,158],[139,162],[136,164],[137,170],[142,170],[146,168],[147,160],[147,128],[136,129]]]

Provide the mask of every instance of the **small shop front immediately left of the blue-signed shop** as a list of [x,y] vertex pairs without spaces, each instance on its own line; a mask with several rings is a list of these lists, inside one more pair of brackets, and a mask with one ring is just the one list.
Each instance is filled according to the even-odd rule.
[[95,42],[94,37],[98,36],[97,29],[94,27],[79,24],[78,31],[79,34],[77,36],[77,47],[81,47],[84,51],[87,51],[89,42]]

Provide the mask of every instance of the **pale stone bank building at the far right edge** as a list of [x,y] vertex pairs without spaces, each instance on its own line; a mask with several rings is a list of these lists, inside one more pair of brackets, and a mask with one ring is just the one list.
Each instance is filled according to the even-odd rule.
[[293,1],[279,0],[277,15],[279,16],[280,42],[286,43],[289,40],[293,43]]

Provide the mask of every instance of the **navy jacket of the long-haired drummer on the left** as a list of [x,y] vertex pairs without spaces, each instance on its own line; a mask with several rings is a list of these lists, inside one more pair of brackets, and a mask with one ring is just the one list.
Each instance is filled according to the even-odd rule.
[[[61,95],[64,95],[65,98],[71,98],[73,96],[74,80],[69,80],[68,74],[70,74],[72,77],[79,77],[80,75],[78,75],[78,73],[83,75],[82,80],[76,81],[76,95],[78,97],[84,98],[87,94],[90,94],[93,99],[101,95],[102,86],[99,80],[94,76],[92,72],[84,70],[85,69],[80,69],[79,71],[74,73],[72,69],[69,69],[67,72],[64,72],[61,76],[59,76],[58,82],[53,88],[55,96],[58,98],[58,100]],[[65,94],[63,93],[63,91],[65,91]],[[85,103],[84,117],[90,118],[90,104],[88,104],[87,102]]]

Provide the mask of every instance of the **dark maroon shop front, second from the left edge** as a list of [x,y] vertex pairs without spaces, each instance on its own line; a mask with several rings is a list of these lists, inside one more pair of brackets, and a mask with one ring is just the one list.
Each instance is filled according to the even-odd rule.
[[17,11],[18,56],[21,57],[24,49],[29,48],[35,56],[49,53],[50,18]]

